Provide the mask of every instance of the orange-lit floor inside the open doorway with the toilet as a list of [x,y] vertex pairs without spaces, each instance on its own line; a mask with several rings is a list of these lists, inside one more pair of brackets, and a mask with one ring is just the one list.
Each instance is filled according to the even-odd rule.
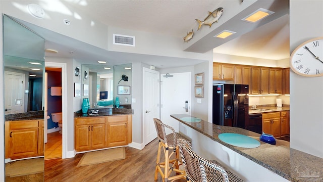
[[62,134],[59,131],[48,133],[44,157],[45,160],[62,158]]

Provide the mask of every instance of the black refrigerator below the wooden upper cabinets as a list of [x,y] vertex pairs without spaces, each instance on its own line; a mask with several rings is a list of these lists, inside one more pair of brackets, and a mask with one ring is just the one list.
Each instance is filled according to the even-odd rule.
[[249,85],[213,84],[213,124],[245,128]]

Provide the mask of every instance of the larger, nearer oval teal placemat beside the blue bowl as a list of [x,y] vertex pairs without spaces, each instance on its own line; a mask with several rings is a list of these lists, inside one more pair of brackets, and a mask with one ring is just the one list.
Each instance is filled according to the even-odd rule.
[[256,148],[260,146],[260,142],[249,136],[238,133],[221,133],[219,139],[223,142],[243,148]]

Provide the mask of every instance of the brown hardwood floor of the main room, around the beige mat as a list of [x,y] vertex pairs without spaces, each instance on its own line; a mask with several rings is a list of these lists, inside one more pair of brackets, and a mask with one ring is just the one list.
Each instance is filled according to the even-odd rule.
[[[83,154],[45,160],[44,181],[154,181],[157,147],[155,139],[142,150],[126,147],[126,159],[81,167],[76,166]],[[162,181],[159,174],[157,181]]]

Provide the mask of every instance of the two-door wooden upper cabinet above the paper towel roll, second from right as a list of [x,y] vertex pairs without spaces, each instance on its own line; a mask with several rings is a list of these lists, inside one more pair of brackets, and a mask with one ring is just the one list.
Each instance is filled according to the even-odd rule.
[[283,81],[282,69],[270,69],[270,94],[282,94],[282,81]]

